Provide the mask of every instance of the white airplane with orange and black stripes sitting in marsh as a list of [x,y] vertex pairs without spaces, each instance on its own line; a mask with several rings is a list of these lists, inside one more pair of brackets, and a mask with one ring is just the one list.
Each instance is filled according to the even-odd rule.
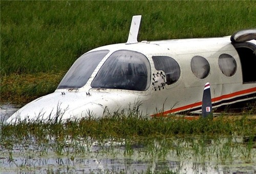
[[84,53],[54,93],[26,104],[7,122],[101,118],[131,108],[146,117],[200,113],[207,83],[212,108],[255,101],[256,29],[139,42],[140,21],[141,15],[133,16],[126,43]]

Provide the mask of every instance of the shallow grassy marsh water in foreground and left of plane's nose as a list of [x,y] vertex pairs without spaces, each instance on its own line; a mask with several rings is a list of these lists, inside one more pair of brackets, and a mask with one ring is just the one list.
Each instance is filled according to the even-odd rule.
[[[4,105],[3,122],[17,110]],[[2,131],[2,130],[1,130]],[[254,141],[254,140],[253,140]],[[59,144],[61,143],[61,144]],[[0,147],[0,173],[256,173],[255,142],[243,136],[129,140],[90,137]]]

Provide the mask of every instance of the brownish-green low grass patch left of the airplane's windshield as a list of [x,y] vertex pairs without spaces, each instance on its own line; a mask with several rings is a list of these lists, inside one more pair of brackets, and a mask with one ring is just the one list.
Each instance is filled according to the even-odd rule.
[[[53,93],[65,73],[11,74],[1,77],[1,103],[23,105]],[[3,92],[2,92],[3,91]]]

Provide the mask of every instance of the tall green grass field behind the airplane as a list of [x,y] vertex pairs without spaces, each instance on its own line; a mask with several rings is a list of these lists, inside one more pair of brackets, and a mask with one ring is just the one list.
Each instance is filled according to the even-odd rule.
[[[139,40],[225,36],[255,28],[256,21],[254,1],[0,3],[1,102],[12,103],[28,102],[54,91],[60,74],[84,52],[125,42],[133,15],[142,15]],[[41,74],[49,85],[46,89],[37,82]],[[52,78],[53,74],[57,78]],[[30,77],[37,79],[38,85]],[[28,82],[27,88],[18,89],[17,96],[24,99],[8,97],[20,81]]]

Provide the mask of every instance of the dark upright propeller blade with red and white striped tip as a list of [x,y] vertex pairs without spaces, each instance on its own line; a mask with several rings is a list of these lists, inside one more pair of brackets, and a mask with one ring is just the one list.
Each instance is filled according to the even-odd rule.
[[212,114],[210,83],[204,86],[203,101],[202,101],[202,117],[207,117]]

